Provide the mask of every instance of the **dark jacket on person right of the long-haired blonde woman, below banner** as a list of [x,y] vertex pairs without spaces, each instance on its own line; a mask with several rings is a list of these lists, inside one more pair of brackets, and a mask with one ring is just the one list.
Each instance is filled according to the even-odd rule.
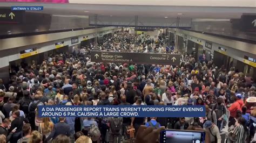
[[49,141],[51,138],[55,139],[60,134],[64,134],[67,136],[70,135],[69,124],[66,124],[63,122],[59,122],[59,123],[55,124],[53,127],[53,130],[51,131],[51,134],[49,135],[49,137],[46,140]]

